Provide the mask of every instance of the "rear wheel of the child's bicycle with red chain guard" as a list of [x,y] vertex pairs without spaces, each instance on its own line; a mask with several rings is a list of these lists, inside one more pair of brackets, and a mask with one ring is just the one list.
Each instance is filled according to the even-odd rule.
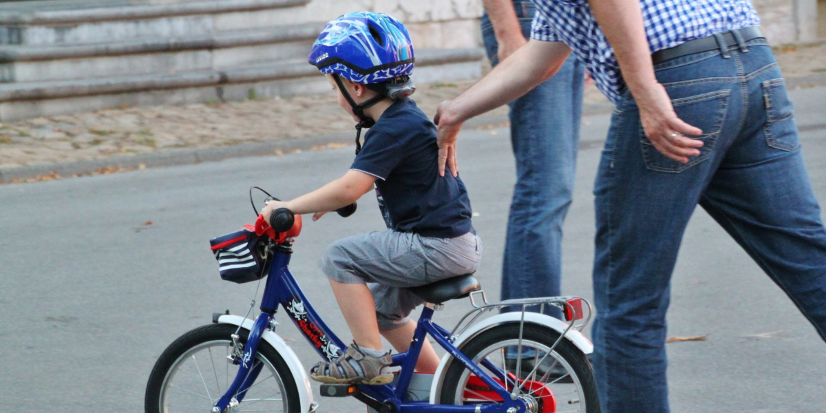
[[[482,332],[462,346],[462,353],[518,396],[529,413],[599,413],[591,364],[582,351],[556,330],[525,324],[520,349],[520,325],[508,323]],[[500,403],[501,397],[453,358],[445,369],[440,404]],[[502,377],[505,377],[503,380]]]

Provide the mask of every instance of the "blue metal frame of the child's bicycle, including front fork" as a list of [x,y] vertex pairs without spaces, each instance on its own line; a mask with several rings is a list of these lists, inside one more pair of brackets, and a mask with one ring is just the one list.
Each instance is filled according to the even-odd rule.
[[[249,361],[255,359],[261,335],[269,328],[273,315],[278,311],[279,305],[287,310],[287,314],[293,323],[295,323],[298,330],[301,331],[301,334],[304,335],[307,341],[316,349],[316,352],[321,358],[332,361],[337,360],[344,354],[343,349],[346,349],[346,346],[333,331],[330,330],[324,320],[321,320],[321,317],[311,306],[310,301],[306,299],[306,296],[301,291],[301,287],[298,286],[289,268],[287,268],[290,263],[290,257],[292,256],[292,249],[289,249],[289,246],[289,244],[276,244],[271,249],[271,265],[261,300],[261,314],[255,320],[253,328],[249,332],[249,338],[244,346],[243,356],[240,360],[237,360],[239,370],[235,376],[235,380],[227,389],[224,396],[221,396],[221,399],[216,403],[216,406],[212,409],[213,413],[224,412],[228,406],[236,406],[243,401],[245,392],[239,392],[239,390],[249,388],[249,386],[255,382],[262,364],[249,363]],[[392,366],[401,366],[401,372],[399,373],[399,378],[395,386],[392,384],[381,386],[359,385],[359,400],[368,404],[370,401],[373,401],[373,403],[391,404],[395,406],[396,413],[506,413],[512,408],[515,410],[511,410],[511,412],[525,411],[524,401],[520,399],[513,400],[510,392],[505,387],[502,387],[500,382],[490,377],[473,363],[470,358],[466,357],[451,344],[450,332],[436,325],[431,320],[433,312],[433,309],[425,307],[416,326],[410,349],[404,353],[392,356]],[[463,363],[472,373],[476,374],[482,382],[501,397],[502,402],[500,404],[474,406],[431,405],[427,401],[405,402],[404,396],[410,385],[416,361],[419,358],[422,344],[425,342],[427,335],[433,337],[436,343],[447,350],[449,354],[453,355],[460,363]],[[482,365],[491,372],[494,372],[501,382],[506,384],[514,382],[512,377],[508,377],[501,368],[496,367],[493,363],[484,360]],[[234,395],[237,396],[233,397]]]

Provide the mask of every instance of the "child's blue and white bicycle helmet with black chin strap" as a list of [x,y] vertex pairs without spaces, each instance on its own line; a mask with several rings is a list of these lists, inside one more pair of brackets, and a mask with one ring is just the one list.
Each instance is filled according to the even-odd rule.
[[[375,124],[375,120],[364,116],[364,109],[386,97],[402,99],[415,92],[410,80],[415,60],[411,36],[401,21],[386,14],[356,12],[330,21],[313,43],[307,60],[322,74],[333,75],[358,116],[356,154],[361,150],[362,128]],[[367,85],[379,94],[356,104],[341,78]]]

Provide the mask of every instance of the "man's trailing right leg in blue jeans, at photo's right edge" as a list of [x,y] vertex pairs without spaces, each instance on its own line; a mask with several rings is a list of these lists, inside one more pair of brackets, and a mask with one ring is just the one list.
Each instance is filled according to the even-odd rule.
[[[747,71],[774,61],[768,45],[752,46],[739,57]],[[751,124],[714,173],[700,205],[826,340],[826,229],[781,76],[775,68],[748,81]]]

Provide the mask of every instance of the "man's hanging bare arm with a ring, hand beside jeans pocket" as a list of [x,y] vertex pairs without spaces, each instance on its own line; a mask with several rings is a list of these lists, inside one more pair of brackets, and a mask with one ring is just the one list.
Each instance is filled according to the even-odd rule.
[[596,21],[614,48],[619,69],[639,108],[648,140],[668,158],[684,164],[700,154],[700,140],[672,133],[700,135],[700,129],[676,116],[666,89],[657,82],[645,36],[639,0],[588,0]]

